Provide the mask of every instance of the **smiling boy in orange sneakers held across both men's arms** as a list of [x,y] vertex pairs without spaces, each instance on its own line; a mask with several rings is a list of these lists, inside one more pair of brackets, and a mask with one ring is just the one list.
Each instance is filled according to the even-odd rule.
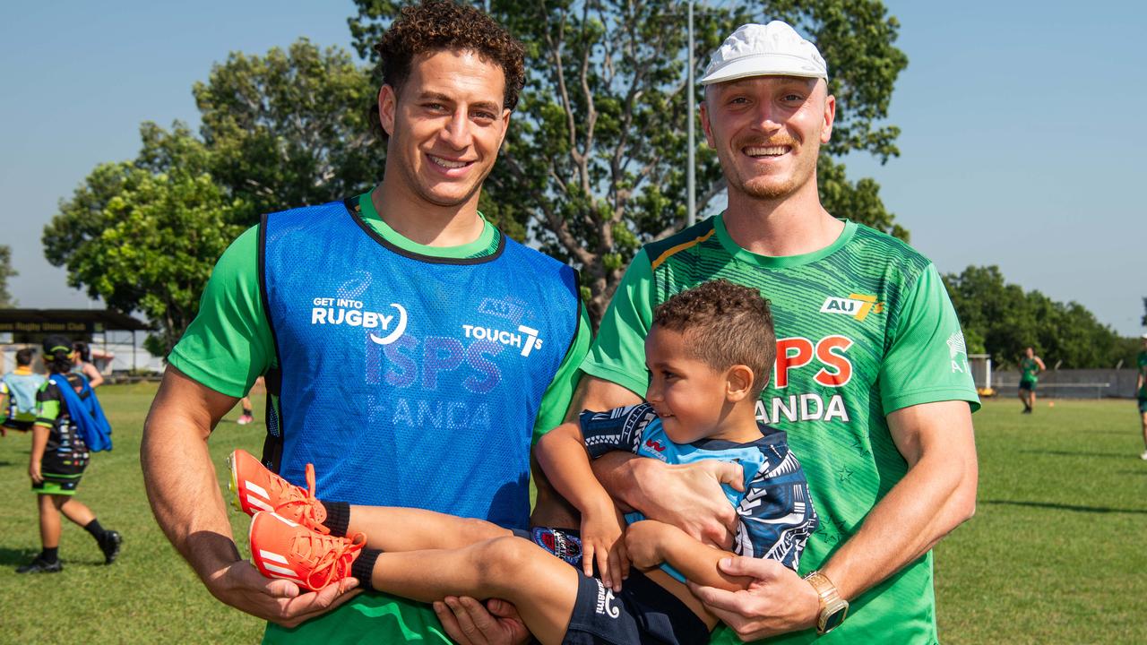
[[[582,512],[579,545],[561,530],[536,528],[521,539],[479,520],[320,502],[313,473],[303,491],[235,451],[232,487],[240,507],[255,512],[255,564],[310,589],[353,575],[422,601],[504,598],[547,644],[705,642],[718,620],[679,581],[738,590],[749,580],[721,574],[717,562],[727,552],[669,524],[631,516],[622,539],[624,521],[590,458],[630,450],[670,463],[739,461],[744,492],[726,489],[741,519],[734,552],[796,569],[816,513],[785,434],[755,419],[774,355],[767,303],[751,289],[718,280],[657,308],[646,341],[648,403],[584,412],[580,425],[555,428],[537,446],[556,490]],[[562,561],[577,565],[579,547],[584,576]],[[631,560],[640,570],[626,576]],[[590,577],[595,564],[601,580]],[[671,569],[656,568],[663,564]]]

